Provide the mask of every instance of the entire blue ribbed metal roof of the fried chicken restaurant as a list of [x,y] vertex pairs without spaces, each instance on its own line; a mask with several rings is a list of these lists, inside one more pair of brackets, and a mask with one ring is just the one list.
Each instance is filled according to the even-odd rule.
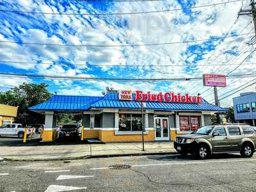
[[[134,96],[134,95],[133,95]],[[107,93],[104,97],[53,95],[51,99],[29,108],[32,111],[84,111],[90,108],[140,109],[140,102],[119,100],[118,93]],[[227,111],[209,104],[182,102],[146,102],[145,109],[164,111]]]

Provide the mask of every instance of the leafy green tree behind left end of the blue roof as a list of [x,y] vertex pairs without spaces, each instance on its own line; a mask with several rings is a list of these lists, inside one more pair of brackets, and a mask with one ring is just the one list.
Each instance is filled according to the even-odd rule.
[[45,102],[51,97],[52,94],[48,92],[47,86],[45,83],[20,84],[7,92],[0,92],[0,103],[19,107],[15,122],[23,125],[43,124],[44,115],[29,111],[28,108]]

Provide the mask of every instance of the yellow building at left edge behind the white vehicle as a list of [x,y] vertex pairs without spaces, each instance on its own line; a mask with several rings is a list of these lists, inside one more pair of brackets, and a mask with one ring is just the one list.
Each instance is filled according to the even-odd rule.
[[18,107],[6,106],[0,104],[0,126],[3,124],[12,124],[17,116]]

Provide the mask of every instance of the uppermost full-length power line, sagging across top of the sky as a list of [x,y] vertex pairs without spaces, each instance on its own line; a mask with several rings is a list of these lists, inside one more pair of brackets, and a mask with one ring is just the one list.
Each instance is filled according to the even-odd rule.
[[145,13],[161,13],[161,12],[174,12],[180,10],[191,10],[194,8],[204,8],[207,6],[216,6],[221,4],[228,4],[228,3],[236,3],[240,0],[236,1],[227,1],[223,3],[214,3],[214,4],[205,4],[201,6],[193,6],[189,8],[176,8],[172,10],[157,10],[157,11],[150,11],[150,12],[128,12],[128,13],[47,13],[47,12],[26,12],[26,11],[19,11],[19,10],[0,10],[0,12],[12,12],[12,13],[29,13],[29,14],[41,14],[41,15],[134,15],[134,14],[145,14]]

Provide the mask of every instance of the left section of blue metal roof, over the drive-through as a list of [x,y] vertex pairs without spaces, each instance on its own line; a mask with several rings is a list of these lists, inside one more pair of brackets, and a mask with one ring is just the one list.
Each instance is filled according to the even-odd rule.
[[49,100],[29,108],[31,111],[83,111],[103,97],[53,95]]

